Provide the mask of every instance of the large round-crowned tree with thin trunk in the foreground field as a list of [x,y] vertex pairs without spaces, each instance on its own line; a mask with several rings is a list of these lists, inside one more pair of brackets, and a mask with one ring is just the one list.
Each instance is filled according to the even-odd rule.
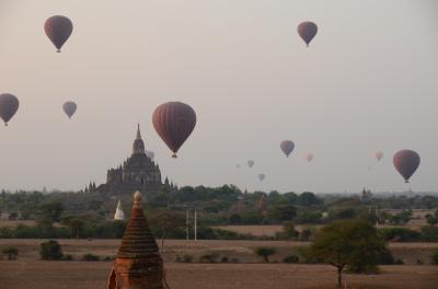
[[316,258],[337,268],[337,288],[341,288],[345,266],[348,265],[355,273],[377,268],[385,243],[367,221],[342,220],[323,227],[316,233],[311,250]]

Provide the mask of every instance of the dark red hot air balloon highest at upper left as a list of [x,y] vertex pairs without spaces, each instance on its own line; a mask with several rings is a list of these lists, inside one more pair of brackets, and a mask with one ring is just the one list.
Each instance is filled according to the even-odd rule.
[[44,31],[46,32],[47,37],[58,49],[57,53],[60,53],[62,45],[73,32],[73,23],[71,23],[71,20],[66,16],[51,16],[46,20],[46,23],[44,23]]

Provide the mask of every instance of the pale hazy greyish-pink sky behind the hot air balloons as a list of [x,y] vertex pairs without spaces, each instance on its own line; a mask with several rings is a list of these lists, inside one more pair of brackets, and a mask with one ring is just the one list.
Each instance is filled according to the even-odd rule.
[[[43,28],[54,14],[74,24],[61,54]],[[310,48],[306,20],[319,25]],[[105,182],[140,123],[178,185],[438,190],[437,28],[435,0],[0,0],[0,92],[21,102],[0,127],[0,187]],[[197,113],[177,160],[151,124],[166,101]],[[392,166],[400,149],[422,157],[410,186]]]

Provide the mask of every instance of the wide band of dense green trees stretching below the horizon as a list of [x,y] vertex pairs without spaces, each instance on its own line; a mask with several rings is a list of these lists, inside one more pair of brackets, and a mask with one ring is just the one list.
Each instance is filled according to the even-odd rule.
[[[129,218],[131,196],[120,196]],[[145,194],[143,207],[159,239],[183,239],[186,234],[186,211],[197,210],[200,239],[251,239],[211,229],[227,224],[330,224],[336,220],[361,219],[371,224],[403,226],[413,216],[413,208],[437,208],[435,196],[319,196],[310,192],[241,192],[232,185],[221,187],[185,186],[178,189],[162,186]],[[35,220],[36,227],[1,229],[3,238],[120,238],[124,226],[113,219],[117,198],[97,193],[19,192],[0,194],[0,210],[10,219]],[[397,212],[385,210],[402,208]],[[427,216],[425,227],[411,240],[436,240],[438,210]],[[193,230],[193,220],[189,222]],[[283,239],[279,234],[276,239]],[[390,235],[390,234],[389,234]],[[404,236],[394,236],[403,239]]]

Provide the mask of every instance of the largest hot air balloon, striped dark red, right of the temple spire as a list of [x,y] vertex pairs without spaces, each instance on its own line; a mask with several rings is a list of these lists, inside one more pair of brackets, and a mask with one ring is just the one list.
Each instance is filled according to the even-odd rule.
[[195,128],[196,113],[185,103],[168,102],[155,108],[152,124],[157,134],[173,151],[172,158],[176,158],[176,152]]

